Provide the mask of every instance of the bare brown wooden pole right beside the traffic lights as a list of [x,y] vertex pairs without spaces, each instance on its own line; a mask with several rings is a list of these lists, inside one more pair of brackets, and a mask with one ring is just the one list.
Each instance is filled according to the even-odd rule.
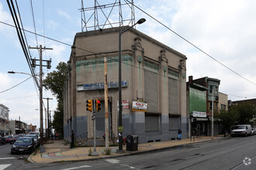
[[104,57],[104,78],[105,78],[105,141],[106,148],[109,148],[109,101],[108,101],[108,68],[107,68],[107,59]]

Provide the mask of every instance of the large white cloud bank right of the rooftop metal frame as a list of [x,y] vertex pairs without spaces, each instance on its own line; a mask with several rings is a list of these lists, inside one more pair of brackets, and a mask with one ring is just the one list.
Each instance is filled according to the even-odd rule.
[[[142,2],[140,2],[143,5]],[[163,3],[160,1],[159,3]],[[231,70],[256,83],[255,54],[256,44],[256,2],[254,1],[172,1],[166,7],[156,8],[143,5],[145,11],[180,36],[192,42],[204,52],[213,56]],[[157,6],[158,7],[158,6]],[[173,13],[174,11],[175,13]],[[170,14],[168,19],[168,14]],[[216,63],[206,54],[195,49],[173,32],[164,29],[160,24],[147,19],[143,29],[150,36],[185,54],[187,59],[187,75],[200,78],[210,76],[220,79],[220,90],[223,93],[237,96],[256,97],[255,86],[244,80],[220,63]],[[141,26],[143,27],[143,26]],[[140,27],[139,27],[140,28]],[[242,89],[241,89],[242,88]],[[240,100],[237,98],[237,100]]]

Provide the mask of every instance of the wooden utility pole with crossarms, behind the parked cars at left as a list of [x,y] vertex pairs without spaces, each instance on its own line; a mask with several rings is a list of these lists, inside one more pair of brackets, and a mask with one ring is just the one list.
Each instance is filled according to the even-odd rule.
[[[52,49],[52,48],[46,48],[40,45],[40,47],[30,47],[29,49],[38,49],[40,52],[40,59],[32,59],[32,67],[40,66],[40,152],[44,152],[44,147],[43,147],[43,61],[47,62],[47,69],[50,69],[50,63],[51,60],[43,60],[43,50],[45,49]],[[39,65],[36,65],[36,61],[40,61]]]

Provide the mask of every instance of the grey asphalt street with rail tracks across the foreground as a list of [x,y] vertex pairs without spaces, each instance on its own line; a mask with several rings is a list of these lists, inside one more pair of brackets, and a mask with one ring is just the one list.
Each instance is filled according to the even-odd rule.
[[[0,151],[2,153],[0,146]],[[10,156],[11,155],[5,155]],[[5,169],[255,169],[256,135],[247,138],[226,138],[152,151],[140,155],[99,159],[89,162],[33,164],[16,159]],[[1,154],[2,158],[2,154]],[[0,165],[5,162],[0,160]],[[0,168],[1,169],[1,168]]]

